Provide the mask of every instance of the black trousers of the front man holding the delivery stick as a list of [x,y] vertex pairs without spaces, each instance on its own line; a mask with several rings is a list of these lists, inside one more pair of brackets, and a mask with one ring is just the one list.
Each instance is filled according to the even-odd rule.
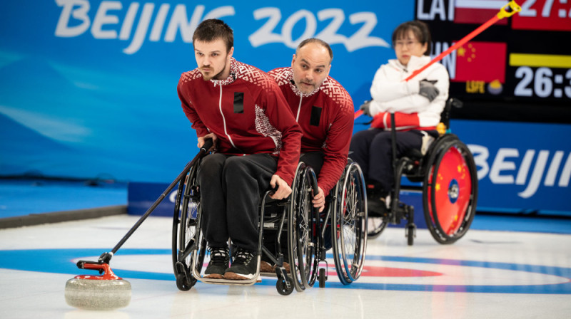
[[208,246],[227,246],[230,238],[242,249],[258,250],[258,202],[277,166],[277,158],[268,154],[204,157],[198,185]]

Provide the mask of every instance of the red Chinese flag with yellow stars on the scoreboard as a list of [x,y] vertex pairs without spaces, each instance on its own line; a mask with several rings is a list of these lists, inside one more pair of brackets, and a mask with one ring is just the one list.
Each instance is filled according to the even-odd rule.
[[506,44],[467,42],[456,51],[456,76],[453,82],[499,80],[505,83]]

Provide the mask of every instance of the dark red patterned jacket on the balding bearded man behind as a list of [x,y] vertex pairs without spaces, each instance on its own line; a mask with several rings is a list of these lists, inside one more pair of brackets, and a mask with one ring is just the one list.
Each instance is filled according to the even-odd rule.
[[318,185],[325,194],[329,194],[347,164],[353,135],[353,100],[345,88],[330,76],[317,90],[303,94],[293,83],[290,67],[276,68],[269,74],[276,79],[303,130],[301,152],[323,152]]

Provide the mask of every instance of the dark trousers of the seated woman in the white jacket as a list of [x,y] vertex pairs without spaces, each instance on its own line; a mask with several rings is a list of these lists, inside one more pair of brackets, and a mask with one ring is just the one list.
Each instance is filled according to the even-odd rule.
[[[423,145],[423,133],[418,130],[396,133],[397,157],[413,148],[420,150]],[[380,188],[380,197],[386,197],[395,182],[390,131],[370,128],[357,132],[351,139],[349,150],[350,159],[359,164],[366,182],[375,184]]]

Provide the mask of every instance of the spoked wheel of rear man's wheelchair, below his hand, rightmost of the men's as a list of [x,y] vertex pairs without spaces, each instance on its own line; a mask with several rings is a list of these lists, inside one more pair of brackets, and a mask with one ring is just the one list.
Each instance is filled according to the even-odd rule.
[[337,187],[331,227],[333,259],[341,283],[348,285],[360,277],[367,249],[367,199],[358,164],[348,164]]

